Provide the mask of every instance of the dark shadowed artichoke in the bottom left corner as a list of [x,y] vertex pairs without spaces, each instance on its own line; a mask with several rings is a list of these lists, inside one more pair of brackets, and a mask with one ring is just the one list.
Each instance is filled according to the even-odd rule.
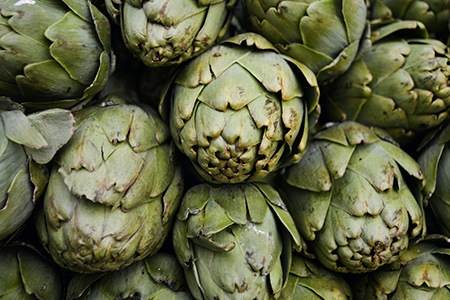
[[0,299],[61,300],[61,272],[26,244],[0,247]]

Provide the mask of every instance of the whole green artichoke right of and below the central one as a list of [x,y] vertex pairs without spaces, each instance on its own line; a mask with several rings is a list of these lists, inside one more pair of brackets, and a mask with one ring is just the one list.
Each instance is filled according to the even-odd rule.
[[332,124],[283,179],[300,234],[331,270],[373,271],[424,234],[422,171],[384,132]]

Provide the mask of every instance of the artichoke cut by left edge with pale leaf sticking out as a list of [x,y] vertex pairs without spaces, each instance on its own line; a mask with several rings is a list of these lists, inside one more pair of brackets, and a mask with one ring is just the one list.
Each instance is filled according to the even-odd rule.
[[0,240],[31,216],[44,191],[44,166],[72,136],[74,119],[63,109],[25,115],[23,108],[0,97]]

